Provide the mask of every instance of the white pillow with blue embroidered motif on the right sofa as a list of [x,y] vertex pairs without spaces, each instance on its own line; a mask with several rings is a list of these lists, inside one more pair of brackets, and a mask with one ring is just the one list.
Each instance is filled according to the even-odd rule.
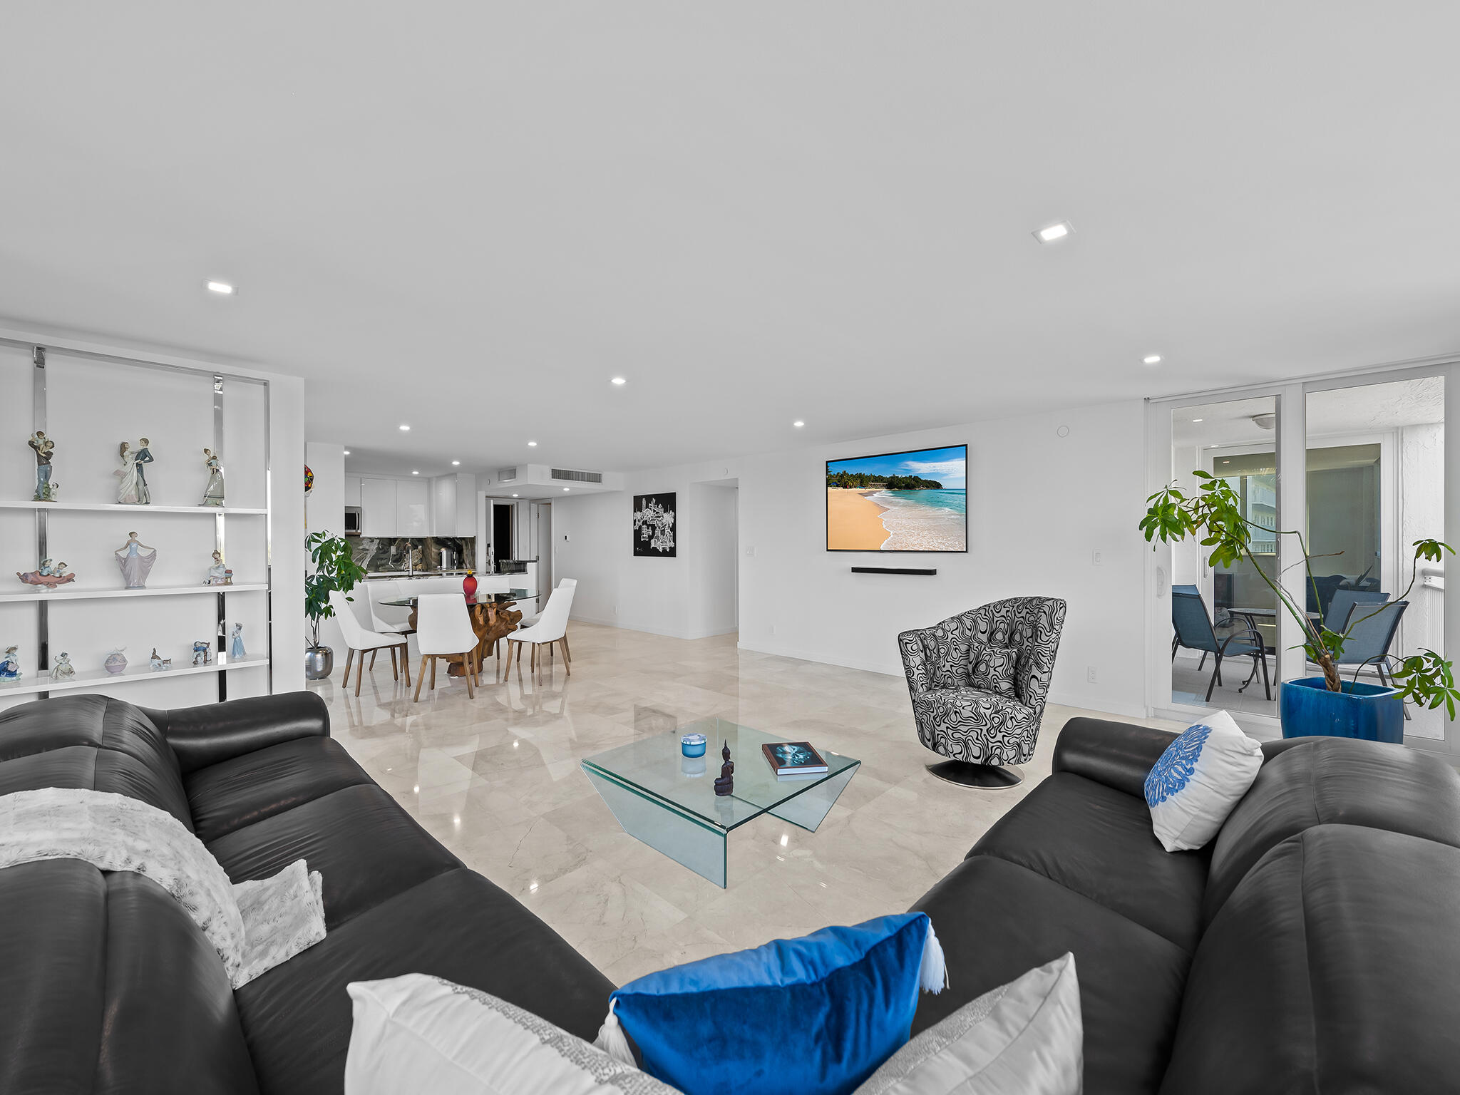
[[1167,746],[1146,777],[1146,804],[1167,851],[1194,851],[1226,823],[1263,766],[1263,748],[1226,711],[1213,711]]

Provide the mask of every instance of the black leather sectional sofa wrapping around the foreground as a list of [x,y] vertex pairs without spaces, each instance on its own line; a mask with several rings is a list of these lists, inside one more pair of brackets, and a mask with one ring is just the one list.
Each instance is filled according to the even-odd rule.
[[[1399,746],[1278,743],[1218,840],[1168,854],[1140,788],[1169,740],[1064,727],[1054,775],[915,905],[952,987],[914,1029],[1073,950],[1091,1095],[1460,1089],[1460,777]],[[235,993],[147,879],[0,870],[0,1092],[339,1092],[345,986],[412,971],[585,1038],[603,1019],[613,986],[420,829],[311,694],[0,712],[0,794],[47,785],[169,810],[235,880],[305,857],[328,937]]]

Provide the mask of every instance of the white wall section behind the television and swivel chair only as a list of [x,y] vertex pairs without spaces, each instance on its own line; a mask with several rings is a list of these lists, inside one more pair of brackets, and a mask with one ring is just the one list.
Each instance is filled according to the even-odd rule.
[[[967,555],[825,550],[826,460],[962,442]],[[740,645],[901,675],[899,631],[1002,597],[1063,597],[1051,698],[1145,714],[1143,469],[1134,400],[748,458],[740,543],[755,555],[740,558]],[[851,574],[854,564],[939,572]]]

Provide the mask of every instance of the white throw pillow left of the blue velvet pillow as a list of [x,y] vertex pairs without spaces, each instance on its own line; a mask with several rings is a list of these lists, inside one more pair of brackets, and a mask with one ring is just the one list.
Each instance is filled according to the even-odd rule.
[[680,1095],[479,988],[406,974],[347,990],[345,1095]]

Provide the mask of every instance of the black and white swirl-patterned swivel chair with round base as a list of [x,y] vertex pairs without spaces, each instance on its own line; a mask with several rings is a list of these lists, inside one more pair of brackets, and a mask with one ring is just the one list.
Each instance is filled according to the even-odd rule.
[[[1003,765],[1034,756],[1063,629],[1063,600],[1010,597],[898,635],[918,740],[949,758],[929,765],[933,775],[967,787],[1021,783]],[[1018,651],[1012,696],[972,686],[983,645]]]

